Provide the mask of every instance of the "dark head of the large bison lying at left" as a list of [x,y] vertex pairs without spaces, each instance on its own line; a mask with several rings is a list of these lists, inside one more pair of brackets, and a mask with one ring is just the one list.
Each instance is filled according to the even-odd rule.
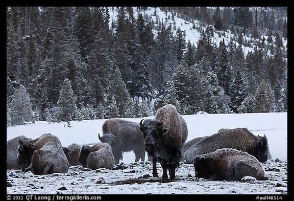
[[24,171],[31,164],[31,159],[34,153],[31,140],[28,138],[20,138],[18,140],[17,164],[20,165],[21,170]]

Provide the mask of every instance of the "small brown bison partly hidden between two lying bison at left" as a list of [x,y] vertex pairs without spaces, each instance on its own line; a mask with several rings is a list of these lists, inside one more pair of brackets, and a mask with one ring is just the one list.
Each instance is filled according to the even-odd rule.
[[79,163],[79,158],[82,150],[82,146],[76,143],[72,143],[67,147],[62,147],[63,152],[66,155],[69,166],[81,165]]

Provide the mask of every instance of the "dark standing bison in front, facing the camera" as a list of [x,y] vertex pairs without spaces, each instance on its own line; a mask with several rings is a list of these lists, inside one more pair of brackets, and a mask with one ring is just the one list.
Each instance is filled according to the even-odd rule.
[[170,180],[175,179],[182,158],[182,145],[188,136],[183,117],[174,105],[167,104],[157,110],[154,119],[141,120],[140,129],[144,133],[145,151],[152,158],[153,176],[158,176],[158,161],[163,169],[162,179],[167,179],[167,169]]

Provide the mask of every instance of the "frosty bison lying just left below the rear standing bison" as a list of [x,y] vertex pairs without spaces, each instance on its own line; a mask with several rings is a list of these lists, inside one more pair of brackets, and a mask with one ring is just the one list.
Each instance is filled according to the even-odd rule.
[[95,170],[98,168],[114,168],[114,157],[111,152],[111,146],[107,143],[96,145],[96,151],[89,153],[87,158],[87,167]]

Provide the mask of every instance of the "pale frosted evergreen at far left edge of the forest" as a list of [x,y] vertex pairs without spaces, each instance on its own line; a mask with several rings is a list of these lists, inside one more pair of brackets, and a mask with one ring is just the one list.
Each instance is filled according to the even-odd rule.
[[25,122],[32,120],[30,95],[22,84],[15,91],[12,98],[10,117],[12,125],[22,125]]

